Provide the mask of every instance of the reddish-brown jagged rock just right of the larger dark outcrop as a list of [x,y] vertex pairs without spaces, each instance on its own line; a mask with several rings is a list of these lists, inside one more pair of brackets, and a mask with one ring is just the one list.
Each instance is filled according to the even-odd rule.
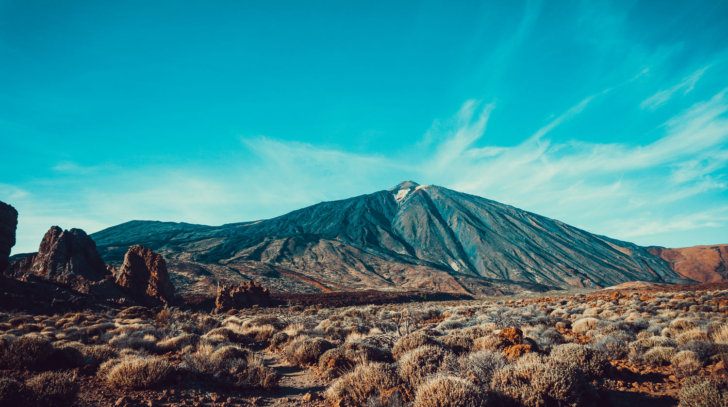
[[141,245],[132,246],[114,275],[116,284],[143,305],[171,305],[175,287],[164,257]]

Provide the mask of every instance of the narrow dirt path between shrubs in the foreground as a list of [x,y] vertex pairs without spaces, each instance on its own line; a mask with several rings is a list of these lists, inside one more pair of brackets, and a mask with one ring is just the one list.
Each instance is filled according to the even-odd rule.
[[276,369],[281,375],[279,387],[266,398],[266,406],[309,406],[318,403],[309,403],[303,400],[307,392],[323,392],[325,382],[309,368],[290,366],[285,358],[269,350],[258,352],[265,359],[266,365]]

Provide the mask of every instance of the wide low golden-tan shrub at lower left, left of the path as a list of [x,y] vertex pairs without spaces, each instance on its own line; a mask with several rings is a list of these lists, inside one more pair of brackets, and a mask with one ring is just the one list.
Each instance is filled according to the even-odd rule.
[[121,360],[103,363],[99,372],[105,374],[106,382],[112,387],[146,390],[165,382],[172,372],[172,366],[165,358],[127,355]]

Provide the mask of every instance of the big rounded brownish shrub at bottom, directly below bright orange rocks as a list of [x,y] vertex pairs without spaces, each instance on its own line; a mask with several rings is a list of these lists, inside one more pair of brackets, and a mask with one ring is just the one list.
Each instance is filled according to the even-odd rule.
[[519,407],[580,406],[585,383],[577,368],[531,355],[494,374],[491,385],[501,403]]

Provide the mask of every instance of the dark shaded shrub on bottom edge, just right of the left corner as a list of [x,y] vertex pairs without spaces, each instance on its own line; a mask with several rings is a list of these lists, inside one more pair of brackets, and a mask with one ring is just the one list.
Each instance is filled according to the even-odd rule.
[[47,371],[25,382],[31,403],[44,407],[73,406],[79,392],[76,374],[69,371]]

